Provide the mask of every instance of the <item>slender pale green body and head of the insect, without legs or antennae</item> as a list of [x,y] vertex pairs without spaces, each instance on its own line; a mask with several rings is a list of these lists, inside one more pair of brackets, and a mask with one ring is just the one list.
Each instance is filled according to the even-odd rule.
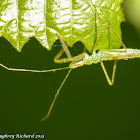
[[112,50],[99,50],[98,53],[94,52],[92,55],[85,53],[84,58],[76,63],[71,63],[70,68],[74,69],[83,65],[91,65],[109,60],[127,60],[133,58],[140,58],[139,49],[112,49]]

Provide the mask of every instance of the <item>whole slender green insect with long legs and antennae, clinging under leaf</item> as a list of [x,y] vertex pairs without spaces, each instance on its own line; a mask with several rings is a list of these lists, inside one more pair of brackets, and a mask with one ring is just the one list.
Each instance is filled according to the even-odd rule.
[[[62,84],[60,85],[59,89],[57,90],[57,93],[55,94],[55,97],[52,101],[52,104],[50,106],[50,109],[47,113],[47,115],[42,118],[42,121],[47,119],[50,115],[50,112],[52,110],[52,107],[57,99],[57,96],[62,88],[62,86],[64,85],[66,79],[68,78],[70,72],[72,71],[72,69],[81,67],[83,65],[91,65],[91,64],[97,64],[100,63],[101,67],[104,71],[105,77],[109,83],[109,85],[113,85],[114,83],[114,78],[115,78],[115,71],[116,71],[116,65],[117,65],[117,60],[125,60],[125,59],[132,59],[132,58],[139,58],[140,57],[140,50],[138,49],[127,49],[126,46],[123,44],[123,42],[121,41],[121,39],[117,36],[117,34],[115,33],[115,31],[111,28],[111,22],[108,23],[108,29],[109,29],[109,34],[110,32],[112,32],[114,34],[114,36],[118,39],[118,41],[121,43],[121,45],[123,46],[123,49],[99,49],[97,52],[97,46],[98,44],[101,42],[101,39],[104,35],[104,30],[103,30],[103,25],[102,22],[100,20],[99,14],[97,12],[97,8],[95,5],[92,5],[91,2],[89,0],[87,0],[87,2],[89,3],[89,5],[91,6],[92,10],[95,10],[95,14],[97,16],[97,20],[99,23],[99,26],[101,28],[101,35],[98,38],[98,40],[96,41],[96,43],[93,46],[93,52],[91,55],[88,55],[88,53],[86,52],[86,50],[84,50],[83,53],[77,55],[77,56],[72,56],[67,44],[65,43],[65,41],[63,40],[63,38],[61,37],[61,35],[57,34],[61,44],[62,44],[62,49],[58,52],[58,54],[54,57],[54,61],[55,63],[66,63],[66,62],[71,62],[69,64],[68,67],[64,67],[64,68],[58,68],[58,69],[51,69],[51,70],[27,70],[27,69],[15,69],[15,68],[9,68],[3,64],[0,63],[0,66],[7,69],[7,70],[12,70],[12,71],[26,71],[26,72],[51,72],[51,71],[56,71],[56,70],[62,70],[62,69],[69,69],[66,77],[64,78]],[[66,53],[67,58],[60,58],[61,55],[63,53]],[[108,73],[106,71],[106,68],[104,66],[103,61],[111,61],[114,60],[114,66],[113,66],[113,72],[112,72],[112,77],[111,79],[108,76]]]

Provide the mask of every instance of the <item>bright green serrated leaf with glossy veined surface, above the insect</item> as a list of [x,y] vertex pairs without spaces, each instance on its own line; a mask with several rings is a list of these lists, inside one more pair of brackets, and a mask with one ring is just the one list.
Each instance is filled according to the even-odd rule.
[[121,40],[120,23],[124,21],[121,1],[0,0],[0,36],[18,51],[30,37],[50,50],[57,35],[70,47],[81,41],[91,53],[95,46],[99,50],[118,49],[121,46],[118,40]]

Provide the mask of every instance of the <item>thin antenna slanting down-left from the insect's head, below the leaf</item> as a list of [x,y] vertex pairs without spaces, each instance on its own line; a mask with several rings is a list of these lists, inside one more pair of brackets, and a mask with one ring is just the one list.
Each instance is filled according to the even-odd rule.
[[67,80],[67,78],[68,78],[68,76],[69,76],[71,70],[72,70],[72,69],[70,69],[70,70],[68,71],[68,73],[67,73],[65,79],[63,80],[63,82],[61,83],[59,89],[57,90],[57,92],[56,92],[56,94],[55,94],[55,96],[54,96],[54,99],[53,99],[53,101],[52,101],[52,104],[51,104],[51,106],[50,106],[50,108],[49,108],[49,111],[48,111],[47,115],[46,115],[44,118],[42,118],[41,121],[44,121],[44,120],[46,120],[46,119],[49,117],[49,115],[50,115],[50,113],[51,113],[51,110],[52,110],[52,108],[53,108],[53,106],[54,106],[54,103],[55,103],[55,101],[56,101],[56,99],[57,99],[57,97],[58,97],[58,95],[59,95],[59,92],[60,92],[61,88],[63,87],[65,81]]

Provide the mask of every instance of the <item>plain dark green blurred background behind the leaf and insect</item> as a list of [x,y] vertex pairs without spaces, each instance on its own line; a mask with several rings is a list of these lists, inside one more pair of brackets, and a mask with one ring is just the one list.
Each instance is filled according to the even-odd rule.
[[[139,27],[127,12],[132,5],[130,1],[126,0],[123,5],[126,14],[126,22],[122,23],[123,42],[128,48],[140,49]],[[53,62],[61,48],[59,41],[55,43],[57,47],[54,45],[47,51],[36,39],[30,38],[20,53],[3,37],[0,43],[1,63],[9,67],[51,69],[67,66]],[[81,46],[76,43],[73,53],[82,52]],[[111,73],[113,62],[105,64]],[[41,122],[67,70],[30,73],[0,68],[0,134],[43,134],[45,140],[138,140],[139,70],[139,59],[119,61],[113,86],[108,85],[100,64],[73,70],[50,117]]]

